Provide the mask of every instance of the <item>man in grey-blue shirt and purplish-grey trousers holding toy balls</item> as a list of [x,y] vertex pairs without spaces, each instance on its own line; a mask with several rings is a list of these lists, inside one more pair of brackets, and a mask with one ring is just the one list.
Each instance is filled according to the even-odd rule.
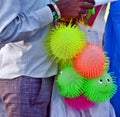
[[79,18],[93,6],[94,0],[0,0],[0,95],[7,117],[49,116],[57,65],[45,36],[54,21]]

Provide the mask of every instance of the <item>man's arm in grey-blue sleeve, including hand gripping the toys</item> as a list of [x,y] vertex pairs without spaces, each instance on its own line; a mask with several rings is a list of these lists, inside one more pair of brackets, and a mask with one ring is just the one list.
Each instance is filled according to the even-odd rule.
[[[94,0],[59,0],[56,4],[62,17],[78,18],[93,8]],[[48,6],[28,14],[21,12],[19,0],[0,0],[0,43],[26,40],[52,21]]]

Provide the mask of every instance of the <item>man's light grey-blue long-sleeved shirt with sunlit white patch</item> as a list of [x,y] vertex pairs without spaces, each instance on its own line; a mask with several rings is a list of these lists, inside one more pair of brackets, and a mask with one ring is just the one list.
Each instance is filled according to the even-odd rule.
[[55,0],[0,0],[0,78],[36,78],[56,74],[44,40],[53,22]]

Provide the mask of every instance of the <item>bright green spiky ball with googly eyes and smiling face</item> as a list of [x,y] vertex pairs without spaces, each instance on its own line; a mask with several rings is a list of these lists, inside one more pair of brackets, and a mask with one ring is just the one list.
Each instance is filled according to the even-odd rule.
[[110,99],[116,90],[114,79],[107,72],[95,79],[86,79],[84,85],[84,95],[93,102],[103,102]]

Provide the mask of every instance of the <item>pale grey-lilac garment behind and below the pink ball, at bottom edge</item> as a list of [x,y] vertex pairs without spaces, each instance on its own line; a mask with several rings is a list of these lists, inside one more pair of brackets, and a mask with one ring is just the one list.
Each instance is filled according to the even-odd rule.
[[50,117],[116,117],[114,109],[109,101],[96,104],[88,110],[74,110],[67,106],[63,98],[58,94],[54,84]]

